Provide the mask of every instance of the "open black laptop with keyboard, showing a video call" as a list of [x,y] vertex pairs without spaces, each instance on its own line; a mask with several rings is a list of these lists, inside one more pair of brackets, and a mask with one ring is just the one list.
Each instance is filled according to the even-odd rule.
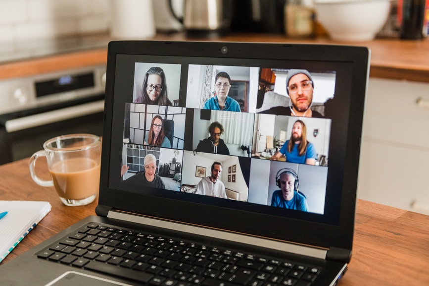
[[369,60],[352,46],[110,42],[96,216],[1,265],[1,285],[336,285]]

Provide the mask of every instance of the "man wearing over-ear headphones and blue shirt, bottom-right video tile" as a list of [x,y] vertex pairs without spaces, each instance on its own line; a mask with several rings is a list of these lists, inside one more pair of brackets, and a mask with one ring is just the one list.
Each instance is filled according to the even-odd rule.
[[298,192],[299,179],[296,172],[289,168],[282,169],[277,172],[276,182],[280,190],[273,193],[272,207],[308,211],[306,197]]

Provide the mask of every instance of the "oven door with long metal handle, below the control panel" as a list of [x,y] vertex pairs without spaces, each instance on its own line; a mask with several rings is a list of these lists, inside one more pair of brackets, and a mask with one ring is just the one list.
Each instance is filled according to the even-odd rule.
[[[83,104],[0,120],[0,165],[30,157],[48,139],[64,134],[103,132],[104,95]],[[16,118],[13,118],[16,117]]]

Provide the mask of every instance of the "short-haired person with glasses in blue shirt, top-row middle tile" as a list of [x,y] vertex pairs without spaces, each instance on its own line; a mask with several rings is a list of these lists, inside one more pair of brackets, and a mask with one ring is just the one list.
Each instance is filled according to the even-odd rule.
[[228,96],[230,89],[230,75],[224,71],[218,72],[215,77],[214,96],[204,103],[203,109],[241,112],[238,102]]

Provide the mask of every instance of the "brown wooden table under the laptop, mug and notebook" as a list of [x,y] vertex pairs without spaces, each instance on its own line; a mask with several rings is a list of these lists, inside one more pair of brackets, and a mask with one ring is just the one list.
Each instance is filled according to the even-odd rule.
[[[42,170],[45,166],[39,167]],[[1,264],[95,214],[96,201],[84,207],[67,207],[52,187],[33,182],[27,159],[0,166],[0,176],[0,199],[45,200],[52,205],[51,212]],[[353,256],[340,285],[428,286],[429,216],[359,200]]]

